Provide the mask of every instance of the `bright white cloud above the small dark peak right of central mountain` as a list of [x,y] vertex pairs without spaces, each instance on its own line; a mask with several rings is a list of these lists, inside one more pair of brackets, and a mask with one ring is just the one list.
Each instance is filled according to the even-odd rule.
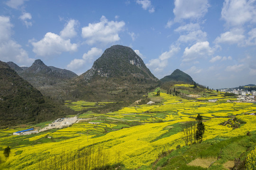
[[190,48],[186,47],[185,51],[183,52],[183,62],[189,62],[194,59],[208,57],[212,55],[214,50],[210,48],[209,42],[197,42],[192,45]]

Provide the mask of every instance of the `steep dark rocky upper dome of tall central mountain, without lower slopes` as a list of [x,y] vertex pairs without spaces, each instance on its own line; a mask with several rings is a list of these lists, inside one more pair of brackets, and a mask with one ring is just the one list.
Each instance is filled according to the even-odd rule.
[[137,77],[157,81],[143,60],[129,47],[114,45],[106,49],[90,70],[82,74],[84,80],[94,77]]

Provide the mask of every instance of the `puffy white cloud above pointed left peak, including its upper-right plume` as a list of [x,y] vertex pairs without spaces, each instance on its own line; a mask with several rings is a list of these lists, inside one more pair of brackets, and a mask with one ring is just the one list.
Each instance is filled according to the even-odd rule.
[[40,41],[31,41],[33,52],[38,56],[47,57],[55,54],[59,55],[62,52],[77,51],[78,45],[76,43],[71,43],[70,39],[68,39],[76,35],[73,28],[75,25],[76,21],[70,20],[60,32],[60,35],[48,32]]

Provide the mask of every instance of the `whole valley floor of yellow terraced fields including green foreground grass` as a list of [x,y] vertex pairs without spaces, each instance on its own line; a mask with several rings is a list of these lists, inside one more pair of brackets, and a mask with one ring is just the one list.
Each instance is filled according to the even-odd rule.
[[[134,104],[104,114],[86,111],[85,107],[98,107],[93,102],[66,102],[67,107],[80,112],[78,118],[91,119],[62,129],[29,136],[9,136],[20,128],[1,130],[0,147],[9,145],[12,148],[9,159],[3,165],[13,170],[75,170],[77,167],[217,170],[225,169],[227,162],[234,167],[238,158],[245,159],[254,149],[256,116],[250,114],[256,112],[256,104],[237,102],[235,97],[225,97],[224,93],[200,87],[196,91],[190,85],[174,85],[171,91],[174,88],[183,93],[176,96],[158,88],[148,93],[147,97],[155,104]],[[160,95],[156,96],[159,90]],[[184,92],[197,93],[201,97],[184,99]],[[208,102],[216,97],[217,102]],[[203,117],[205,125],[203,142],[185,145],[182,126],[197,114]],[[243,145],[242,141],[250,142]],[[238,150],[232,150],[232,147]],[[195,154],[192,151],[196,148],[198,152]],[[227,157],[227,154],[230,156]],[[171,163],[179,156],[185,159]],[[3,160],[3,155],[1,157]],[[202,166],[202,163],[194,161],[197,159],[213,161]]]

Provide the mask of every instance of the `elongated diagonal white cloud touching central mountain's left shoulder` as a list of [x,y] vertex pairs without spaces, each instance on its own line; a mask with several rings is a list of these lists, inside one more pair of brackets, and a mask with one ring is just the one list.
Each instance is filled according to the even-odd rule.
[[79,70],[84,67],[86,63],[91,63],[96,57],[100,57],[102,50],[96,47],[91,48],[87,53],[84,53],[82,59],[73,59],[67,68],[71,70]]

